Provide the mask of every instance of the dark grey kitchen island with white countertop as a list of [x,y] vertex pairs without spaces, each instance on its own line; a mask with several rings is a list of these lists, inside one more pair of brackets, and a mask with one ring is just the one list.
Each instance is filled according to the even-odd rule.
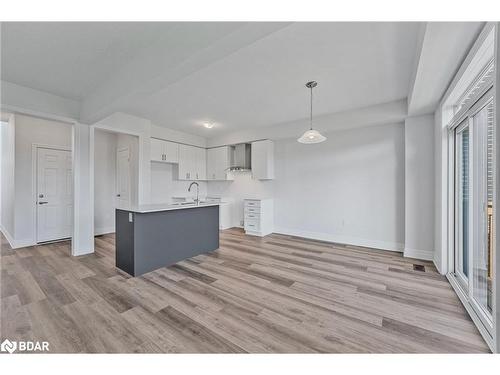
[[116,209],[116,267],[132,276],[219,248],[219,203]]

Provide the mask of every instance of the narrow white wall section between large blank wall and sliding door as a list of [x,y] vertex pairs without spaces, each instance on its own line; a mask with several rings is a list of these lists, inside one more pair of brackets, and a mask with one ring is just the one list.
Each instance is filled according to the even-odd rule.
[[405,120],[406,257],[434,259],[434,116]]

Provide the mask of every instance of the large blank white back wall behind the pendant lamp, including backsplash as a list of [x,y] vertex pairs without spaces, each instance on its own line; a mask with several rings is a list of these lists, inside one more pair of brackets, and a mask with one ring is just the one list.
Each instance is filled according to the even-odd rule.
[[237,221],[243,198],[274,196],[275,232],[403,251],[403,124],[327,136],[316,145],[276,141],[275,180],[242,175],[209,182],[208,193],[234,198]]

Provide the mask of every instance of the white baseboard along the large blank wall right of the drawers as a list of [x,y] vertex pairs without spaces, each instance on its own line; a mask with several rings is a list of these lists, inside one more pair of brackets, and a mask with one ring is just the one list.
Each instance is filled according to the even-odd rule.
[[309,231],[294,230],[287,228],[275,228],[274,233],[285,234],[288,236],[310,238],[312,240],[335,242],[345,245],[371,247],[374,249],[395,251],[399,253],[402,253],[404,250],[404,244],[398,242],[367,240],[364,238],[339,236],[330,233],[309,232]]

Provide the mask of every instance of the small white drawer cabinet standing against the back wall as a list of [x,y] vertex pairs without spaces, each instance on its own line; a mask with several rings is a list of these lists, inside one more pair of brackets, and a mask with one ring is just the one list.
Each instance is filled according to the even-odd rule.
[[252,236],[267,236],[274,230],[274,208],[272,199],[245,199],[243,201],[245,233]]

